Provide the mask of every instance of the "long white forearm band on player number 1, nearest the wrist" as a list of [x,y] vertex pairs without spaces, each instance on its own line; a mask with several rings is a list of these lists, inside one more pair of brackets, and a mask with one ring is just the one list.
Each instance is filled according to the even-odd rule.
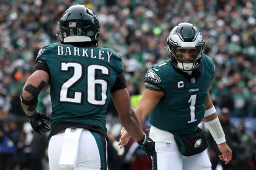
[[210,133],[212,134],[217,144],[221,144],[226,141],[225,134],[221,127],[221,123],[219,122],[218,117],[212,121],[205,122],[205,124],[208,127]]

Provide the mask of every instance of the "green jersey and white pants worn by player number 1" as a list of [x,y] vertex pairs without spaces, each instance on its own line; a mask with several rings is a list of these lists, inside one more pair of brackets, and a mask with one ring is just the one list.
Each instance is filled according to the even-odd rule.
[[153,160],[157,160],[158,169],[211,169],[206,151],[193,157],[180,154],[174,134],[190,135],[197,131],[204,118],[207,89],[214,76],[213,61],[205,54],[191,75],[172,66],[169,60],[149,68],[146,88],[165,93],[149,114],[150,137],[155,141],[157,152]]

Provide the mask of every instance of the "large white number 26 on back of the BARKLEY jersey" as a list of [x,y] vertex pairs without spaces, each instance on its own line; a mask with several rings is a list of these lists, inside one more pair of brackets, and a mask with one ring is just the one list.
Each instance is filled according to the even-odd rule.
[[[76,86],[84,77],[84,67],[80,63],[61,63],[60,70],[62,72],[70,72],[69,68],[74,69],[73,76],[62,84],[60,89],[60,101],[68,103],[82,104],[84,90],[75,91],[74,97],[68,97],[69,89]],[[96,70],[100,70],[102,75],[109,75],[108,68],[96,64],[87,67],[87,101],[90,104],[104,105],[107,100],[107,81],[96,79]],[[101,86],[101,99],[96,99],[96,88]]]

